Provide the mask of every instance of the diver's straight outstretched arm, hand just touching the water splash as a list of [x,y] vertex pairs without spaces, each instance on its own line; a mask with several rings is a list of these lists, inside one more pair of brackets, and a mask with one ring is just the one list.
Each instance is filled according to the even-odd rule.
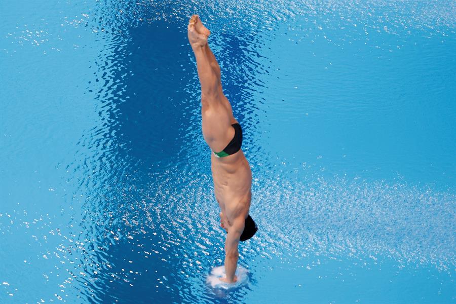
[[244,231],[245,219],[242,216],[236,218],[229,227],[225,240],[225,273],[226,282],[235,282],[235,272],[239,258],[239,238]]

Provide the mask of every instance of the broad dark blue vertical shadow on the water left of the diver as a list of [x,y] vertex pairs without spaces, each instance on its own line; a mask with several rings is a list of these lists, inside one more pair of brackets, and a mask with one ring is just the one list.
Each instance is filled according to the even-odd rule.
[[[105,88],[111,91],[111,96],[100,100],[106,105],[100,114],[107,120],[107,125],[101,126],[102,132],[115,136],[98,137],[98,140],[103,146],[103,141],[109,138],[110,145],[116,148],[101,154],[106,158],[96,162],[101,171],[109,168],[105,162],[119,166],[113,171],[99,172],[103,178],[90,189],[105,199],[97,200],[94,195],[92,201],[86,202],[91,210],[102,212],[98,215],[102,220],[107,217],[110,221],[101,234],[117,229],[111,246],[100,244],[105,247],[112,267],[97,283],[103,286],[103,292],[97,294],[101,302],[125,298],[137,303],[150,299],[181,301],[175,290],[181,284],[172,269],[176,261],[170,260],[173,248],[160,245],[163,236],[154,235],[147,224],[133,220],[126,225],[116,216],[123,215],[123,219],[132,221],[128,213],[137,213],[139,210],[133,209],[144,206],[140,203],[147,200],[144,189],[149,182],[154,183],[148,180],[147,171],[166,165],[179,154],[182,128],[188,125],[187,106],[183,102],[188,96],[181,87],[192,80],[191,70],[182,70],[180,66],[181,61],[188,61],[182,58],[182,54],[188,53],[184,39],[177,26],[156,22],[129,29],[124,48],[113,54],[116,60],[109,67],[113,71],[109,82],[112,85]],[[121,90],[117,89],[117,83]],[[136,234],[134,240],[122,236],[127,233],[125,230],[138,230],[137,226],[142,233]],[[121,275],[113,280],[112,274]],[[170,275],[165,279],[163,274]]]

